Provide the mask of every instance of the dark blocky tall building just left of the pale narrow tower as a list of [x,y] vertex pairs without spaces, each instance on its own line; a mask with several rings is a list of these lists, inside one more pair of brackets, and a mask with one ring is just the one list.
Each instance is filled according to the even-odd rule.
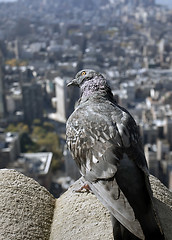
[[24,120],[29,125],[34,119],[43,118],[43,95],[38,83],[25,83],[22,86]]

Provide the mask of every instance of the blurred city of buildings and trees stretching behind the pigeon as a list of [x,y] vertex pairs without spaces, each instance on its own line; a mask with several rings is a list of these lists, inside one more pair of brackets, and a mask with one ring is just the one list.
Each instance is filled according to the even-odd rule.
[[[160,5],[164,3],[166,5]],[[135,118],[151,174],[172,190],[172,4],[0,1],[0,168],[55,197],[80,175],[65,144],[77,71],[103,73]]]

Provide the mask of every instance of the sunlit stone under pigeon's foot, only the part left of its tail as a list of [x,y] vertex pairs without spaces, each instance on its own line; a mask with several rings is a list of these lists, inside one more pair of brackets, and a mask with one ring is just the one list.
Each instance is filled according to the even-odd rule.
[[92,193],[76,193],[81,179],[56,200],[51,240],[113,240],[110,215]]

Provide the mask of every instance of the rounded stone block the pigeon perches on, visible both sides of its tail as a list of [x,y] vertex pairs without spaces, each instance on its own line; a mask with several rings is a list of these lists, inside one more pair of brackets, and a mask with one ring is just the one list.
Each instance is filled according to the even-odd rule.
[[[154,201],[166,240],[172,240],[172,193],[155,177],[150,176]],[[80,178],[56,200],[51,240],[112,240],[110,215],[91,193],[76,193],[83,185]]]

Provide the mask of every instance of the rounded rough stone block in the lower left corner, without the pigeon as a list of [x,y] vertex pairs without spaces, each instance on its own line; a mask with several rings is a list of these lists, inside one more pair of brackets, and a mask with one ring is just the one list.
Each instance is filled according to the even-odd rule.
[[49,239],[55,200],[33,179],[0,170],[0,240]]

